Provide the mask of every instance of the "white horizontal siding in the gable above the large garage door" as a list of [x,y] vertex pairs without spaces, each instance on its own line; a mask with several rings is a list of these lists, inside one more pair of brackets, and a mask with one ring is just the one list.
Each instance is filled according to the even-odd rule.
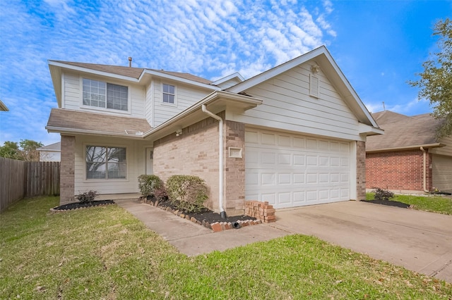
[[319,98],[309,96],[309,64],[299,65],[245,92],[263,104],[227,119],[310,135],[362,140],[358,121],[342,96],[320,71]]

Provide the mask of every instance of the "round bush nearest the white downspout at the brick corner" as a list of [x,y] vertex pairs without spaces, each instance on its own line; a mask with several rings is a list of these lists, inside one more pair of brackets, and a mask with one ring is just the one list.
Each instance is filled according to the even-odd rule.
[[206,209],[204,202],[208,199],[207,186],[197,176],[173,175],[167,180],[169,201],[186,213],[199,213]]

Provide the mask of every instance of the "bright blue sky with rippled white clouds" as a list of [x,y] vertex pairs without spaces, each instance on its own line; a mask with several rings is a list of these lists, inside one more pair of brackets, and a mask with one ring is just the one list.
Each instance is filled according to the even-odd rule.
[[245,79],[325,45],[371,113],[430,113],[408,85],[452,1],[0,0],[0,146],[59,142],[48,60]]

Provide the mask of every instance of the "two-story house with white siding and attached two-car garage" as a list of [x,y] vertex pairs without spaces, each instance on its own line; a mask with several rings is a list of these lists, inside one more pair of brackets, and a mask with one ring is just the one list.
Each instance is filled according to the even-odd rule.
[[197,175],[207,206],[244,213],[362,199],[375,120],[326,47],[244,80],[49,61],[59,108],[61,204],[90,189],[138,192],[138,176]]

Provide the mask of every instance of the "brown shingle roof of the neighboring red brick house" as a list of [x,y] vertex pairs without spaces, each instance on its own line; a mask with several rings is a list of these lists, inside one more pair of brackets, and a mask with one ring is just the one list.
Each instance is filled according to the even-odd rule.
[[410,146],[436,144],[436,128],[442,120],[430,113],[422,115],[401,115],[392,111],[373,113],[372,116],[384,130],[384,135],[367,137],[366,151],[379,149],[406,149]]

